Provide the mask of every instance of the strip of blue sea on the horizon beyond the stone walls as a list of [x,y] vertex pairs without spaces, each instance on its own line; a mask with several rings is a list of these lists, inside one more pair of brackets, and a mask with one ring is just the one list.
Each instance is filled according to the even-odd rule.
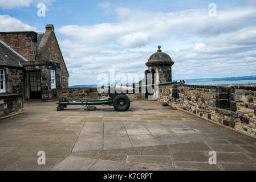
[[[175,80],[173,80],[175,81]],[[117,84],[116,82],[115,84]],[[189,85],[232,85],[232,84],[256,84],[256,76],[224,77],[224,78],[197,78],[185,79],[185,84]],[[70,88],[77,87],[96,87],[92,85],[73,85]]]

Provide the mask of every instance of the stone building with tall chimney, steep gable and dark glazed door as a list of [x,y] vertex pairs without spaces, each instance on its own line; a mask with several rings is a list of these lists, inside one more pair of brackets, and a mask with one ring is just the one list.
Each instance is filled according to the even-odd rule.
[[0,32],[0,40],[18,55],[23,69],[23,100],[52,100],[68,88],[68,71],[52,24],[44,33]]

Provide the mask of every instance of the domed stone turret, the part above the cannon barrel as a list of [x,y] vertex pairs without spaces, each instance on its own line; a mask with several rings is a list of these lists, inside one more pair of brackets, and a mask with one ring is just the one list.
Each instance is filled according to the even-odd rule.
[[168,54],[161,51],[161,46],[158,48],[157,52],[153,53],[146,63],[152,73],[152,83],[154,83],[154,73],[159,74],[160,83],[172,81],[172,65],[174,62]]

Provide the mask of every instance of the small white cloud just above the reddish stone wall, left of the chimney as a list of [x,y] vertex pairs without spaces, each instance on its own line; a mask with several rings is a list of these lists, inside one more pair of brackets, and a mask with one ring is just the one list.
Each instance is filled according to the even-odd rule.
[[0,31],[36,31],[36,27],[9,15],[0,15]]

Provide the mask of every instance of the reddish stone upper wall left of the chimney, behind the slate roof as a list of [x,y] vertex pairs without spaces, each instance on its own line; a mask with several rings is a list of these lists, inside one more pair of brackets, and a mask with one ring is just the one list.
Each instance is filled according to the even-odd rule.
[[0,39],[29,61],[37,54],[36,32],[0,32]]

